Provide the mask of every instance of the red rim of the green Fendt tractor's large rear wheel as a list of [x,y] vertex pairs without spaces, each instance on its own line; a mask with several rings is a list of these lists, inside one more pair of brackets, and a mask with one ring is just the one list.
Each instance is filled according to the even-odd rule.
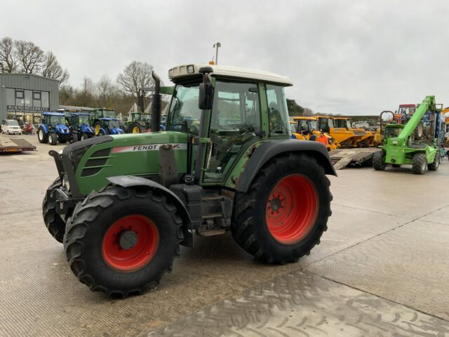
[[300,175],[283,178],[270,192],[265,219],[272,237],[282,244],[295,244],[314,226],[318,213],[314,184]]

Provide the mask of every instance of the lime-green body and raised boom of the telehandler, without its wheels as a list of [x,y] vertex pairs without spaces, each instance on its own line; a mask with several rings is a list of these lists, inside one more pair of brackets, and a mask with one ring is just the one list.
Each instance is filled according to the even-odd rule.
[[[387,124],[385,126],[384,145],[380,148],[384,150],[386,164],[412,164],[413,156],[417,153],[425,153],[428,164],[434,162],[438,150],[437,137],[426,143],[417,142],[413,138],[415,129],[428,111],[438,111],[434,95],[424,98],[407,124]],[[398,133],[398,136],[389,136],[395,133]]]

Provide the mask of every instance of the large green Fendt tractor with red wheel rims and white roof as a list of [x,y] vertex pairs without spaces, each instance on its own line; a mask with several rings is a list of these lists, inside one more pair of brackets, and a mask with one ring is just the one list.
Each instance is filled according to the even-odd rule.
[[166,131],[103,136],[51,151],[59,172],[43,220],[92,291],[126,297],[154,287],[194,232],[232,233],[267,263],[295,262],[320,242],[336,176],[326,147],[291,139],[288,77],[182,65]]

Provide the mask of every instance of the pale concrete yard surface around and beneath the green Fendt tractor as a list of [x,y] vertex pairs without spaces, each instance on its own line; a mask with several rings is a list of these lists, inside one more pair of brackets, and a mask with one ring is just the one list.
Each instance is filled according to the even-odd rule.
[[298,263],[258,263],[230,234],[195,237],[158,289],[125,300],[81,284],[41,202],[48,150],[0,154],[0,336],[448,336],[449,161],[343,169],[333,215]]

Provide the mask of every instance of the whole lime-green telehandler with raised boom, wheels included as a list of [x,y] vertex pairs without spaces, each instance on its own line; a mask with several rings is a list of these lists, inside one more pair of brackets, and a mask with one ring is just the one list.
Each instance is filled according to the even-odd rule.
[[383,171],[387,164],[394,167],[411,164],[415,174],[424,174],[427,169],[436,171],[445,152],[441,137],[443,117],[435,96],[424,98],[405,120],[406,124],[385,126],[382,152],[374,154],[373,168]]

